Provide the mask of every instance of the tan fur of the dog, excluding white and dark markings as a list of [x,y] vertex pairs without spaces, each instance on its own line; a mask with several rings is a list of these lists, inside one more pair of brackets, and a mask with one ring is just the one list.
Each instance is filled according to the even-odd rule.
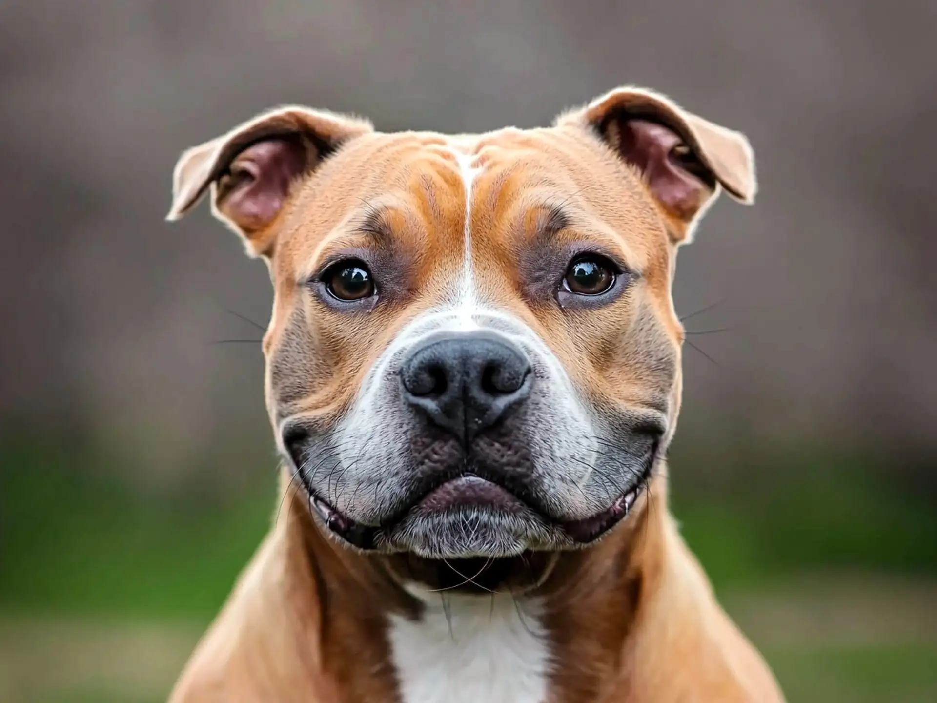
[[[672,435],[683,330],[671,285],[677,244],[694,222],[662,208],[641,173],[609,148],[614,134],[602,135],[602,123],[616,111],[653,112],[699,154],[717,192],[724,187],[739,200],[753,199],[744,137],[635,89],[565,113],[554,127],[481,136],[387,135],[360,120],[290,108],[186,152],[176,168],[171,217],[181,217],[223,178],[238,149],[271,120],[275,129],[305,130],[335,146],[328,157],[310,155],[308,173],[269,226],[247,231],[227,218],[249,250],[265,257],[274,280],[263,347],[277,434],[279,419],[297,413],[334,423],[396,332],[432,307],[456,277],[463,243],[451,234],[462,232],[466,213],[454,156],[461,153],[482,167],[468,224],[483,293],[543,337],[576,386],[596,402],[641,407],[663,394]],[[214,189],[216,214],[224,217],[224,194]],[[713,195],[705,194],[702,209]],[[556,233],[559,242],[586,239],[616,251],[640,272],[640,285],[627,300],[574,315],[528,302],[516,264],[534,247],[543,213],[558,203],[575,219],[574,228]],[[412,294],[351,319],[310,303],[302,283],[336,253],[372,246],[373,236],[356,226],[367,212],[377,212],[379,224],[394,233]],[[633,333],[624,335],[631,339],[624,344],[623,331]],[[675,370],[655,370],[662,365],[654,359],[676,360]],[[283,381],[285,369],[297,368],[302,373]],[[545,568],[538,592],[556,660],[549,700],[782,700],[765,663],[722,611],[680,538],[667,511],[664,471],[661,464],[632,515],[612,534],[585,550],[558,553]],[[413,614],[418,606],[394,577],[394,559],[354,552],[322,534],[287,469],[281,487],[279,519],[171,701],[398,700],[387,617]]]

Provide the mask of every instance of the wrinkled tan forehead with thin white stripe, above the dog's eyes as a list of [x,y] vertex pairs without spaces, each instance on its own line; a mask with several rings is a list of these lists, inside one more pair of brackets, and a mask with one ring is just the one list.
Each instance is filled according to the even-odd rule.
[[636,271],[667,256],[662,219],[637,173],[579,131],[378,133],[298,189],[275,271],[303,277],[336,251],[375,246],[409,249],[424,271],[490,268],[551,237],[552,247],[586,239]]

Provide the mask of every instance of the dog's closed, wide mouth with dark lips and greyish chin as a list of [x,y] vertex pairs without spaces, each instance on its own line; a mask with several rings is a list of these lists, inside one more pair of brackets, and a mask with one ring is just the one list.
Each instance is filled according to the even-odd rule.
[[531,497],[468,472],[431,487],[378,526],[351,519],[313,491],[309,508],[335,536],[365,551],[430,559],[514,557],[586,546],[612,531],[646,490],[655,458],[651,452],[641,474],[606,509],[575,520],[550,517]]

